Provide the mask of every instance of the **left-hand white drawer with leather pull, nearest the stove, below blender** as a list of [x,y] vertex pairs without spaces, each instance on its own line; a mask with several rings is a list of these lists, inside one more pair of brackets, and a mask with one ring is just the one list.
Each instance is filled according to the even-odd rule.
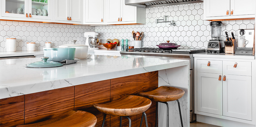
[[[208,66],[208,62],[210,62],[209,66]],[[197,60],[197,72],[222,74],[222,61],[220,61],[220,60]]]

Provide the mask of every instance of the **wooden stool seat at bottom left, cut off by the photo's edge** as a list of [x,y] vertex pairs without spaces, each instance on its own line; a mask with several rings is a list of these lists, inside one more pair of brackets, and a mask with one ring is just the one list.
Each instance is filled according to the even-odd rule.
[[71,110],[59,115],[56,118],[46,120],[34,124],[18,125],[17,127],[34,127],[34,126],[87,126],[94,127],[97,122],[97,118],[85,111]]

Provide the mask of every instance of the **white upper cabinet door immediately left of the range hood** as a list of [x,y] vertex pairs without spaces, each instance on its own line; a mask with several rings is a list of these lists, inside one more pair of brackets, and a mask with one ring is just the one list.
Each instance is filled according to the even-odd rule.
[[136,7],[135,6],[128,6],[128,5],[125,5],[124,4],[124,1],[121,1],[121,5],[122,5],[122,8],[121,8],[121,18],[122,18],[122,21],[121,21],[121,18],[120,18],[120,21],[121,22],[129,22],[129,21],[135,21],[135,9]]

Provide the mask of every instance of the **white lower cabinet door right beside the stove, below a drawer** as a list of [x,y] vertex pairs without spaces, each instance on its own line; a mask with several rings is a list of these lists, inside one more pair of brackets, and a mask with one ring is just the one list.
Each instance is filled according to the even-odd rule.
[[197,72],[197,111],[222,115],[221,74]]

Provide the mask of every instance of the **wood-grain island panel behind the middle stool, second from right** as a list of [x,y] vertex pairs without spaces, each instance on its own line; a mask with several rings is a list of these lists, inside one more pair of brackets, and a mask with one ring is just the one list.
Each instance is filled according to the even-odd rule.
[[[115,78],[110,80],[110,100],[114,101],[120,99],[126,95],[137,94],[137,75],[126,76],[121,78]],[[132,126],[137,126],[137,116],[130,116],[132,120]],[[119,117],[111,116],[110,126],[119,126]],[[126,118],[122,118],[122,126],[128,126],[129,122]]]

